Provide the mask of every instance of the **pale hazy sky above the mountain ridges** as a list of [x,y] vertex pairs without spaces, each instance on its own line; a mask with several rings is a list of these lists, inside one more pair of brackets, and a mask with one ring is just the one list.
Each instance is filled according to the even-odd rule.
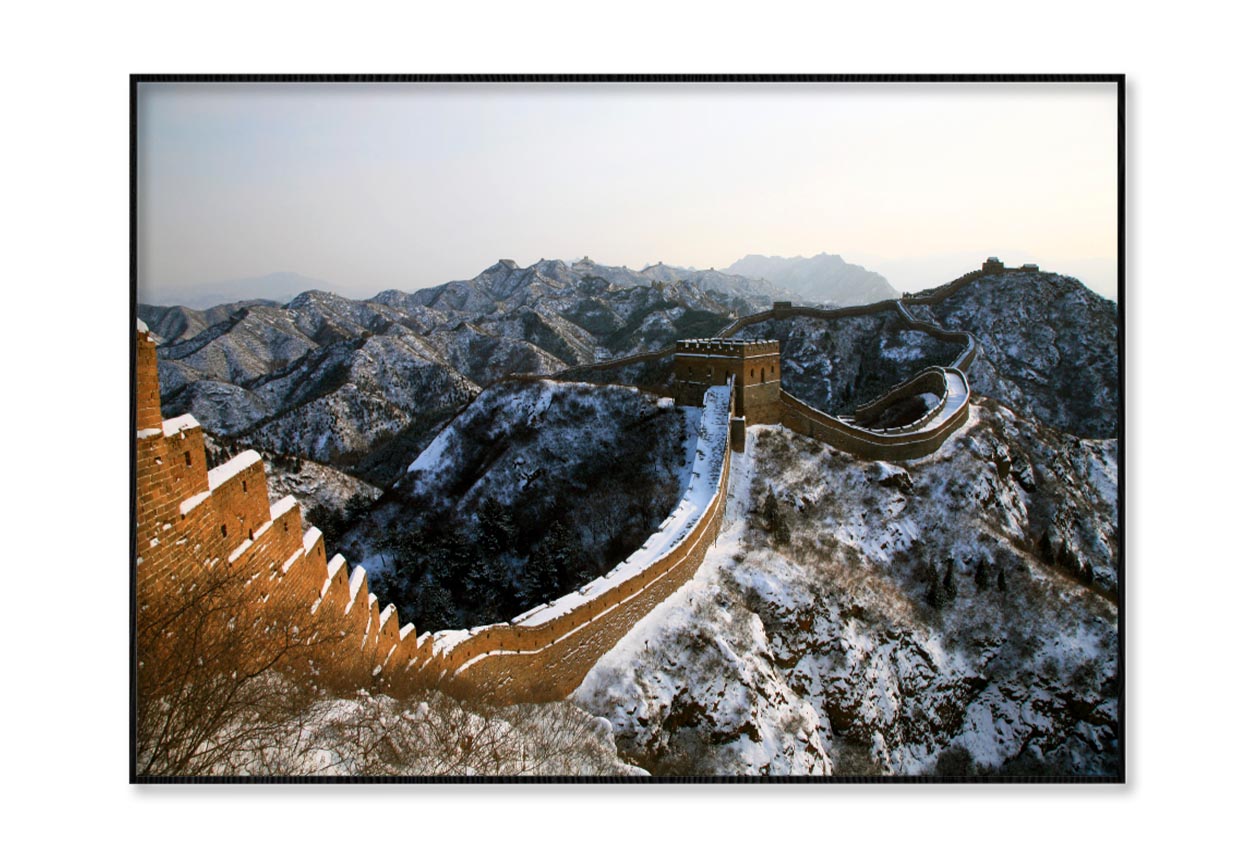
[[905,291],[996,254],[1113,297],[1116,132],[1114,84],[144,84],[139,299],[819,252]]

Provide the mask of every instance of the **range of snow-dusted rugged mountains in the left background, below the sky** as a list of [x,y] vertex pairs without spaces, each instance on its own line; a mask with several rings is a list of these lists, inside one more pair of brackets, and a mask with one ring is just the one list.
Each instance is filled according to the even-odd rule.
[[434,430],[509,373],[710,334],[777,288],[714,271],[541,261],[372,299],[140,306],[162,337],[162,398],[214,435],[391,482]]

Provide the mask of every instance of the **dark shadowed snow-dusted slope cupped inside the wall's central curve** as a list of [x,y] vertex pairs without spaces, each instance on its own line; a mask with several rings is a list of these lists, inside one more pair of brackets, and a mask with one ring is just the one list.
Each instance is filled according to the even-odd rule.
[[620,386],[507,380],[343,544],[419,630],[510,619],[634,551],[674,509],[700,410]]

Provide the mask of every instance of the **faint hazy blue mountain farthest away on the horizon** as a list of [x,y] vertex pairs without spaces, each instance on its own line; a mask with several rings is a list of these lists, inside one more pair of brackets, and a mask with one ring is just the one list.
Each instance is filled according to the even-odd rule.
[[861,306],[900,296],[878,273],[826,252],[812,258],[749,254],[723,272],[764,278],[803,302]]

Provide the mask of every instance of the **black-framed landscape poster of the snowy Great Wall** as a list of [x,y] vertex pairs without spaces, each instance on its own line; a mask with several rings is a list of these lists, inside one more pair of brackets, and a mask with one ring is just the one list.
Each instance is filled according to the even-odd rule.
[[132,78],[132,780],[1121,782],[1123,84]]

